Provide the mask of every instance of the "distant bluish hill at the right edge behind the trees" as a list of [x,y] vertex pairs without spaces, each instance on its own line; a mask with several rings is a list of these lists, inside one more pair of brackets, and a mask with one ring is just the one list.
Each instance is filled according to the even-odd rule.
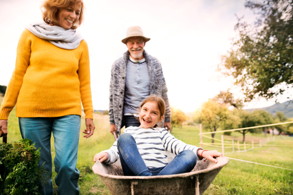
[[284,112],[284,115],[286,117],[292,118],[293,117],[293,100],[291,100],[291,102],[286,101],[284,103],[277,103],[277,104],[274,104],[274,105],[269,106],[269,107],[256,108],[256,109],[246,109],[246,110],[248,110],[250,112],[252,112],[253,110],[265,110],[265,111],[267,111],[269,113],[272,113],[272,115],[275,115],[276,112],[280,111],[280,112]]

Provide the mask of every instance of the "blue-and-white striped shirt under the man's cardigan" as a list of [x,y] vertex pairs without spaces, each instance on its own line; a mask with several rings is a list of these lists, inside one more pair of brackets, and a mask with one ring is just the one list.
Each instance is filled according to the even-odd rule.
[[140,104],[149,96],[149,73],[146,59],[134,60],[129,56],[123,113],[138,114]]

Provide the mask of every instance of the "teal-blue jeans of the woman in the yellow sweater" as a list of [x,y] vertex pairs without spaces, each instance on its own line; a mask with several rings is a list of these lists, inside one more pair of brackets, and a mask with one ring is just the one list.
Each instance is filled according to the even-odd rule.
[[[44,167],[52,177],[51,134],[54,136],[55,171],[58,174],[55,182],[58,195],[79,195],[79,170],[76,168],[81,117],[67,115],[63,117],[19,117],[22,138],[29,138],[41,148],[39,166]],[[52,179],[47,184],[40,184],[42,195],[53,195]]]

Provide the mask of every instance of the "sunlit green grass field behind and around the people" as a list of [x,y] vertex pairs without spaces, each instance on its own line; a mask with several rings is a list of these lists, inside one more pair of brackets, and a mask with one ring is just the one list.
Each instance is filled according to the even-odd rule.
[[[0,102],[2,98],[0,97]],[[80,134],[78,164],[80,170],[80,194],[81,195],[110,195],[110,192],[105,187],[99,176],[92,173],[91,167],[94,164],[93,156],[110,148],[114,142],[113,136],[108,133],[109,121],[108,116],[95,115],[94,123],[96,126],[95,133],[92,137],[85,139],[82,131],[85,128],[84,117],[82,117],[82,128]],[[183,126],[173,128],[172,135],[182,141],[198,146],[199,129],[195,126]],[[216,134],[215,138],[220,139],[221,134]],[[242,135],[233,132],[231,136],[225,136],[225,139],[242,140]],[[13,142],[21,139],[21,134],[18,127],[18,118],[15,117],[15,109],[12,111],[8,121],[8,141]],[[259,139],[265,140],[263,134],[247,134],[246,140],[250,143],[253,139],[255,142]],[[54,143],[53,138],[51,139]],[[204,142],[210,142],[209,138],[204,137]],[[219,141],[215,141],[219,143]],[[242,142],[241,142],[242,143]],[[226,156],[249,160],[253,162],[293,169],[293,139],[276,139],[269,144],[284,145],[284,146],[263,146],[255,148],[246,153],[229,153],[231,149],[225,149]],[[207,150],[218,150],[212,146],[204,146]],[[55,156],[54,144],[52,144],[52,156]],[[54,167],[53,167],[54,170]],[[53,171],[53,180],[56,173]],[[54,184],[54,191],[57,186]],[[230,160],[221,172],[213,180],[205,195],[293,195],[293,171],[277,169],[267,166],[250,164]]]

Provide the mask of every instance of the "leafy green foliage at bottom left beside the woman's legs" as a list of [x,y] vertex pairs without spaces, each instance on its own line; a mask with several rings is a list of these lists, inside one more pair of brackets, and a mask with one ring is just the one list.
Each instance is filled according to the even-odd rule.
[[48,182],[50,175],[44,166],[38,168],[40,148],[30,139],[13,144],[0,144],[0,194],[41,195],[39,181]]

